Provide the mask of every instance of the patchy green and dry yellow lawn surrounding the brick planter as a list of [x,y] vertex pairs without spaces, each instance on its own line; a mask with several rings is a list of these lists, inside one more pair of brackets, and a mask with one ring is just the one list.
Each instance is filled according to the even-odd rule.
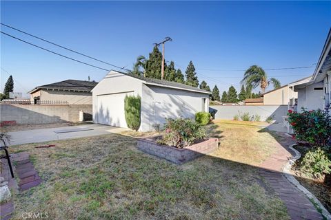
[[257,123],[208,127],[222,136],[221,148],[181,166],[138,151],[136,140],[121,134],[52,142],[53,148],[13,146],[12,153],[30,153],[43,179],[13,196],[14,219],[22,212],[48,212],[50,219],[289,219],[251,166],[277,140]]

